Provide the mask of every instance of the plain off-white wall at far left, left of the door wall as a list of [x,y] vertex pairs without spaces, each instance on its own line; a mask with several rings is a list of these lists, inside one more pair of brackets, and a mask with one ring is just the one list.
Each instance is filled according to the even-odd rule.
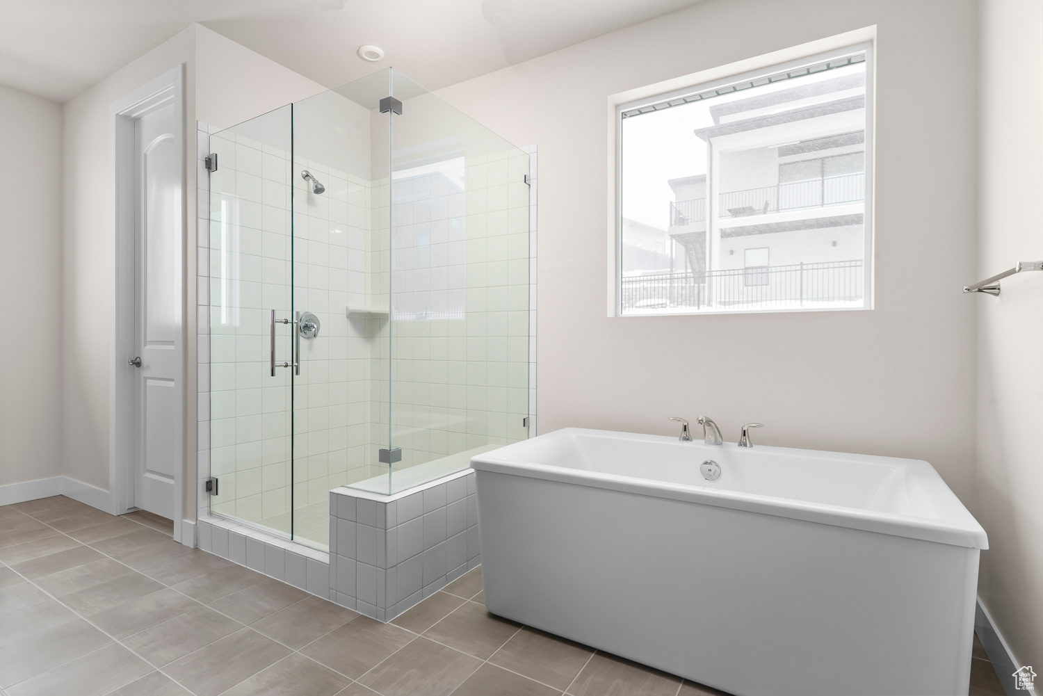
[[0,87],[0,486],[62,473],[62,106]]

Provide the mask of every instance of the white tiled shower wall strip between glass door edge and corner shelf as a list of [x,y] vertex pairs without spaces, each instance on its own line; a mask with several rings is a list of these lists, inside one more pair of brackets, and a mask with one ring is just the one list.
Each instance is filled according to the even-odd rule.
[[[325,186],[312,193],[308,169]],[[294,504],[329,502],[330,489],[370,476],[366,457],[371,339],[365,319],[345,315],[368,303],[369,183],[322,163],[294,163],[294,304],[318,316],[301,339],[294,393]],[[323,534],[324,535],[324,534]]]

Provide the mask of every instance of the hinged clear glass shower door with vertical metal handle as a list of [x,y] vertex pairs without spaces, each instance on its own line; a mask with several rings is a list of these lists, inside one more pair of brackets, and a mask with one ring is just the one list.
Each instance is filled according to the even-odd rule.
[[[292,537],[290,105],[211,135],[211,510]],[[274,321],[273,321],[274,319]]]

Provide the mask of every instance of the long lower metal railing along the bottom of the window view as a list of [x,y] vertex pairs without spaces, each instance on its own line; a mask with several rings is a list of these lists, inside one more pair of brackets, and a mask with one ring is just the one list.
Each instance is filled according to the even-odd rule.
[[623,313],[860,305],[863,262],[756,266],[624,278]]

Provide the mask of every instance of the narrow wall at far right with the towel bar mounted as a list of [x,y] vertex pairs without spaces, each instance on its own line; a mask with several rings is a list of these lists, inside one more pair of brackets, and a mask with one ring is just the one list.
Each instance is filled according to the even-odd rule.
[[[980,239],[975,278],[1043,259],[1043,5],[981,3]],[[1019,665],[1043,664],[1043,273],[978,309],[976,501],[989,532],[979,590]],[[1039,667],[1036,668],[1039,670]]]

